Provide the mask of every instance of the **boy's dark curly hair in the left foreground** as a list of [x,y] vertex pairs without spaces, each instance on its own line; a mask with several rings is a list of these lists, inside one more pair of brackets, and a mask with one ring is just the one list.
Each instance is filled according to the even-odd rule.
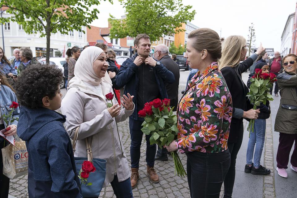
[[42,107],[42,98],[52,99],[62,83],[63,73],[56,65],[32,64],[20,75],[15,84],[19,104],[28,108]]

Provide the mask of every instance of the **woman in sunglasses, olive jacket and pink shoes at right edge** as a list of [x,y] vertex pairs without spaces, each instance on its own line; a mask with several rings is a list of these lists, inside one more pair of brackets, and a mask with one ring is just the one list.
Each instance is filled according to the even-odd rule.
[[291,156],[291,169],[297,172],[297,56],[288,54],[283,59],[283,73],[277,77],[281,95],[274,131],[279,132],[278,153],[276,155],[278,175],[287,178],[290,151],[295,141]]

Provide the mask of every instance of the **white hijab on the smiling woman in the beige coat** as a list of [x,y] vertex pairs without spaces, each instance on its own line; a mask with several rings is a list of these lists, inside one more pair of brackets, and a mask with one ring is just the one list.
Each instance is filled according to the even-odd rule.
[[74,77],[69,81],[68,88],[75,87],[84,93],[100,97],[102,95],[98,93],[98,87],[102,88],[103,95],[110,93],[112,82],[108,73],[105,72],[105,76],[100,78],[93,70],[93,63],[101,53],[104,53],[104,51],[95,46],[89,46],[81,52],[75,63]]

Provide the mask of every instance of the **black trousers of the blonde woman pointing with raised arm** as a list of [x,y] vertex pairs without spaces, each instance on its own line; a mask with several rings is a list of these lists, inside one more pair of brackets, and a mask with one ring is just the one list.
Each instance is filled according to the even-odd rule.
[[228,173],[224,180],[224,198],[231,198],[233,192],[233,186],[235,181],[235,164],[236,164],[236,157],[239,149],[241,147],[242,139],[243,139],[243,123],[240,125],[239,128],[239,135],[237,138],[237,142],[231,143],[228,142],[228,149],[231,155],[231,164],[228,170]]

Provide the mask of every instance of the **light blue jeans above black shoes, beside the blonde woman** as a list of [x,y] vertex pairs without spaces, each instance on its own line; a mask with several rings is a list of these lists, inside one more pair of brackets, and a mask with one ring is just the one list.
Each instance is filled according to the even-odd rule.
[[256,119],[254,123],[254,132],[251,132],[250,139],[248,140],[247,150],[247,164],[252,164],[254,147],[256,144],[254,154],[254,167],[260,166],[261,154],[265,141],[266,119]]

